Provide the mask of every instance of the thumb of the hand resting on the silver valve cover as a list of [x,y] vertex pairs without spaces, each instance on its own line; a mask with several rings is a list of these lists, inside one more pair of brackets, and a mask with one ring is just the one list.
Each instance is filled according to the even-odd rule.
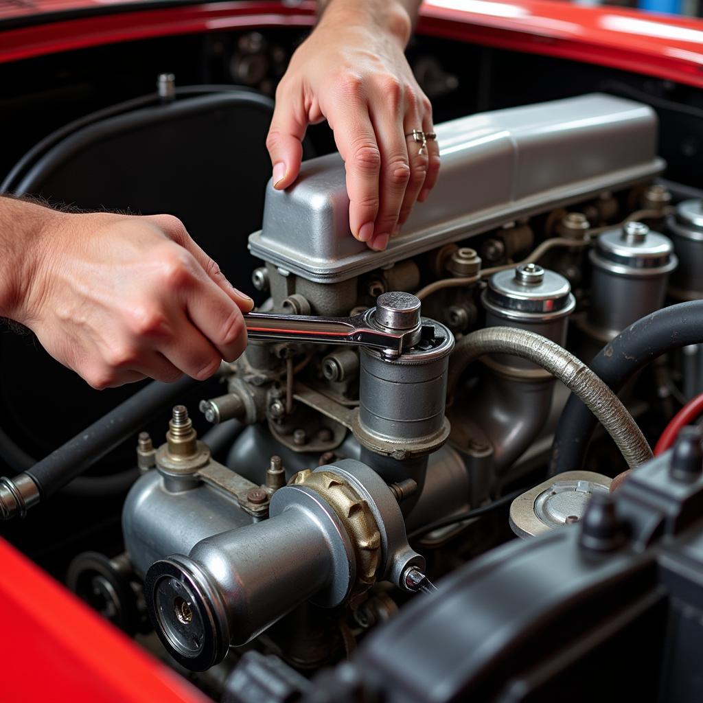
[[302,89],[294,93],[278,91],[276,109],[266,137],[271,156],[273,187],[288,188],[297,179],[303,157],[302,139],[308,120],[302,104]]

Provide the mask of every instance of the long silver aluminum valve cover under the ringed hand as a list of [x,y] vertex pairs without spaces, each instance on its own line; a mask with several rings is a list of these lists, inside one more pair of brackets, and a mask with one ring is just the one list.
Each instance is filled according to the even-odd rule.
[[344,163],[335,153],[304,162],[286,191],[269,181],[252,254],[283,272],[335,283],[664,167],[654,111],[600,93],[470,115],[435,131],[439,182],[385,252],[352,237]]

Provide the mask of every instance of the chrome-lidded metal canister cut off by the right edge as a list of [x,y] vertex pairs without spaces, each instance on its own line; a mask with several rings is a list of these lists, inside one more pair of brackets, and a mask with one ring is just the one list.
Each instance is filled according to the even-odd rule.
[[666,219],[666,232],[678,257],[678,266],[669,280],[669,292],[680,300],[702,298],[703,200],[680,202],[676,214]]

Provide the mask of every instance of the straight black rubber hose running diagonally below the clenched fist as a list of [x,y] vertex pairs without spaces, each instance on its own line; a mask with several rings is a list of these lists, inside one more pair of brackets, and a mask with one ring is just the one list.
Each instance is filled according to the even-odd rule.
[[200,383],[183,376],[175,383],[153,381],[124,403],[69,439],[56,451],[27,470],[47,498],[91,467],[98,459],[134,434],[169,403]]

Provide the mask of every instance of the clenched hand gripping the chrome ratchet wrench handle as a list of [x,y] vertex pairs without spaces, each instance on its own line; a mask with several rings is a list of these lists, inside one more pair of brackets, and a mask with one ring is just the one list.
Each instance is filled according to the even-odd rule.
[[205,379],[245,349],[252,300],[170,215],[51,213],[15,319],[94,388]]

